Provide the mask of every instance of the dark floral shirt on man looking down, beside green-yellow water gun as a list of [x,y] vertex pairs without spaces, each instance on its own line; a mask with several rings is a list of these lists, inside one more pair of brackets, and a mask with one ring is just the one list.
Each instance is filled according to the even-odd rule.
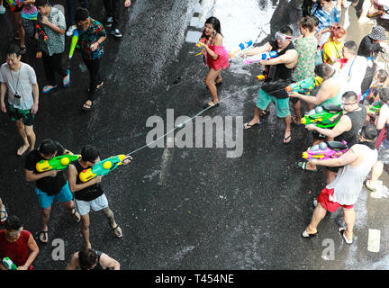
[[102,58],[104,55],[104,42],[101,43],[95,51],[92,51],[90,46],[95,43],[100,37],[105,37],[106,32],[104,27],[98,21],[90,18],[90,25],[86,31],[78,30],[78,45],[81,48],[83,58],[87,60],[95,60],[96,58]]

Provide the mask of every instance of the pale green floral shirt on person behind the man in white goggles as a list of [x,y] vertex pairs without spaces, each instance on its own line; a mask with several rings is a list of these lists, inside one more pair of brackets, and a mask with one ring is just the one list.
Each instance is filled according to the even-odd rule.
[[292,80],[298,82],[308,77],[314,77],[317,39],[313,36],[296,39],[294,40],[294,48],[298,53],[298,61],[292,73]]

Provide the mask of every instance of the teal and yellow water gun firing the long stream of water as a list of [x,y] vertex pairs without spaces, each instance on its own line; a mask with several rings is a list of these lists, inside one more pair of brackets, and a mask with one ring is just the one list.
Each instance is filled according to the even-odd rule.
[[95,176],[103,176],[110,173],[113,169],[122,165],[122,161],[124,160],[125,155],[116,155],[112,157],[108,157],[103,161],[96,163],[93,167],[83,170],[79,174],[79,178],[82,182],[87,182]]

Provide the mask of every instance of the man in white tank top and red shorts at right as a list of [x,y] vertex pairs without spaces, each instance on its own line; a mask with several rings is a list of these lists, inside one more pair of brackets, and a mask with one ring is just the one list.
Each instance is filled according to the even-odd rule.
[[366,175],[368,175],[377,159],[375,149],[377,136],[378,132],[375,126],[369,124],[362,128],[359,142],[349,148],[341,157],[326,160],[313,158],[310,161],[313,165],[343,167],[339,169],[335,179],[321,191],[318,197],[318,205],[313,211],[311,223],[303,231],[302,236],[304,238],[317,235],[317,226],[327,211],[333,212],[342,207],[347,228],[340,228],[339,232],[346,243],[352,243],[355,223],[353,205],[357,202]]

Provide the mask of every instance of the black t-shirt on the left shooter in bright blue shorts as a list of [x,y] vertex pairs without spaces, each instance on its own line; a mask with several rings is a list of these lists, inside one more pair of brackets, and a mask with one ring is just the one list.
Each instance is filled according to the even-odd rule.
[[[62,155],[65,148],[59,143],[54,142],[57,147],[57,155]],[[41,153],[37,149],[33,149],[29,152],[25,158],[24,168],[30,171],[33,171],[35,174],[40,172],[36,169],[36,164],[41,161],[46,160],[41,157]],[[59,171],[55,177],[47,176],[35,181],[37,188],[41,191],[48,193],[49,195],[56,195],[62,189],[62,187],[67,183],[67,178],[64,171]]]

